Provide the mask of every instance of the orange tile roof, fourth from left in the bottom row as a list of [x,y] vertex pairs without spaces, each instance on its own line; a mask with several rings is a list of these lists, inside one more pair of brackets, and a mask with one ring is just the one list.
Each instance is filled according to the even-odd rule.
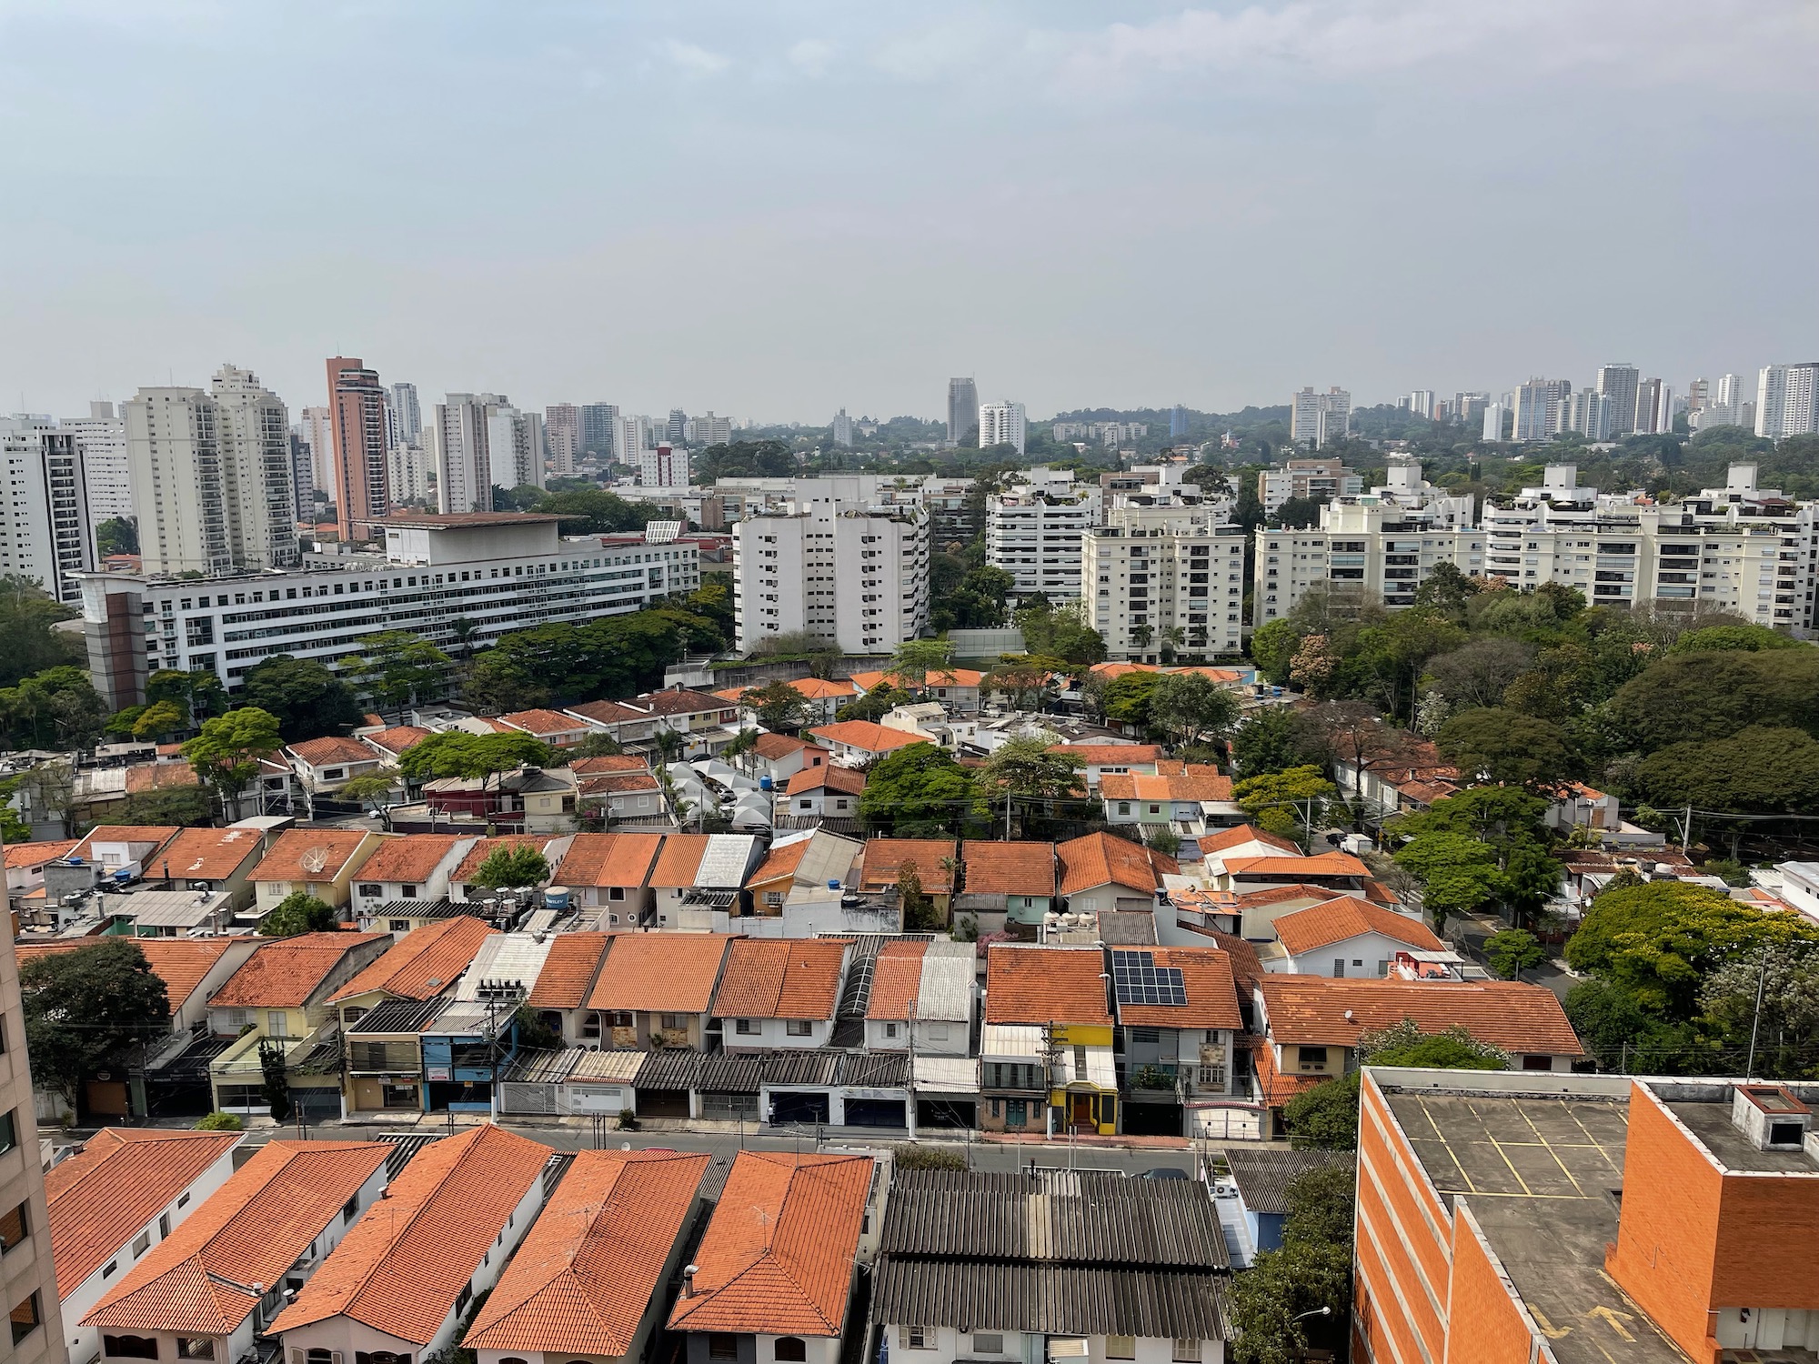
[[706,1155],[577,1155],[462,1344],[522,1355],[631,1353],[706,1169]]

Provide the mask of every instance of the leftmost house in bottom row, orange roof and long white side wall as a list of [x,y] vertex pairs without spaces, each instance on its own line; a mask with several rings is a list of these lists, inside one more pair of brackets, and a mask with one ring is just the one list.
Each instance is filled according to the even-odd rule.
[[124,1269],[227,1182],[242,1140],[238,1131],[104,1128],[45,1171],[51,1255],[71,1360],[87,1364],[100,1355],[100,1331],[78,1322],[120,1282]]

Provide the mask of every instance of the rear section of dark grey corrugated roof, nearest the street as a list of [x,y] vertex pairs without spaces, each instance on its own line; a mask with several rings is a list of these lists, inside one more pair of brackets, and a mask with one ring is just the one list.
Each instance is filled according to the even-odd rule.
[[1104,1268],[1230,1266],[1204,1184],[1097,1171],[899,1169],[879,1249]]

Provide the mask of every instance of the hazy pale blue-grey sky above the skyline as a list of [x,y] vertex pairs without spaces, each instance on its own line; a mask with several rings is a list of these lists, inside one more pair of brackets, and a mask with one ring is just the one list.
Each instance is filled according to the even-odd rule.
[[0,411],[1679,391],[1819,355],[1815,71],[1812,0],[0,0]]

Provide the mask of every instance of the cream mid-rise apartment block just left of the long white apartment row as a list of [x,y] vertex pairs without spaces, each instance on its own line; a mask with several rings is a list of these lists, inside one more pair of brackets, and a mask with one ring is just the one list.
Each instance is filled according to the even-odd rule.
[[1244,529],[1231,504],[1159,486],[1113,493],[1086,537],[1086,622],[1110,658],[1235,655],[1244,644]]

